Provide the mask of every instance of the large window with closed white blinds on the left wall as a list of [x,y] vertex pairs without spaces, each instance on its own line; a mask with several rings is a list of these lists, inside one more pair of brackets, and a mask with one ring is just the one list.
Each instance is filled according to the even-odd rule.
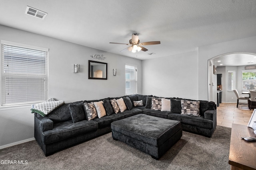
[[48,97],[48,49],[2,43],[2,106],[42,102]]

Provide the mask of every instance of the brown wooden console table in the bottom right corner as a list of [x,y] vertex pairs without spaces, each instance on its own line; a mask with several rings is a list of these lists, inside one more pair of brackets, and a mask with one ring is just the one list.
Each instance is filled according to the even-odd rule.
[[246,125],[232,124],[228,164],[231,170],[256,170],[256,141],[241,137],[256,137]]

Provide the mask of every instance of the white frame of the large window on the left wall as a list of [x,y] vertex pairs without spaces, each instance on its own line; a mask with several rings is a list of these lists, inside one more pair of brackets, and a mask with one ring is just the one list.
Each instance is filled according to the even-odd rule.
[[[12,76],[12,77],[17,77],[15,76],[15,73],[8,73],[5,74],[4,73],[4,68],[3,68],[3,61],[4,61],[4,50],[3,50],[3,45],[10,45],[10,46],[15,46],[15,47],[19,47],[19,48],[24,48],[24,49],[32,49],[32,50],[36,50],[36,51],[44,51],[46,53],[46,58],[44,60],[45,64],[44,64],[44,72],[45,74],[42,74],[42,72],[40,74],[38,73],[32,73],[29,74],[29,72],[27,72],[26,74],[19,74],[19,76],[21,78],[25,78],[25,77],[32,77],[32,78],[38,78],[38,76],[40,76],[40,78],[42,79],[44,77],[44,100],[42,101],[30,101],[30,102],[25,102],[22,101],[20,103],[10,103],[10,104],[6,104],[5,103],[5,93],[6,93],[6,87],[3,84],[4,82],[2,82],[2,78],[7,77],[7,76]],[[1,98],[0,98],[0,108],[5,109],[5,108],[12,108],[12,107],[28,107],[29,105],[33,104],[33,103],[38,103],[38,102],[43,102],[45,100],[47,100],[48,98],[48,79],[49,79],[49,72],[48,72],[48,58],[49,58],[49,49],[48,48],[44,48],[44,47],[37,47],[37,46],[33,46],[33,45],[26,45],[26,44],[22,44],[22,43],[15,43],[15,42],[11,42],[11,41],[5,41],[5,40],[1,40],[1,60],[0,60],[0,68],[1,68],[1,76],[0,76],[0,81],[1,81]],[[26,62],[25,62],[26,63]],[[42,76],[43,75],[43,76]],[[41,91],[42,92],[42,91]],[[29,95],[28,95],[29,96]]]

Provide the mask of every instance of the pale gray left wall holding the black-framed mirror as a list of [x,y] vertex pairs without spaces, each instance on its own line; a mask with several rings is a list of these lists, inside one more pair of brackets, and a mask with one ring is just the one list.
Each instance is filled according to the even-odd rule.
[[[49,98],[66,103],[125,95],[125,64],[138,66],[138,93],[142,94],[142,61],[74,43],[0,25],[0,40],[49,49]],[[104,61],[90,55],[102,54]],[[108,63],[108,80],[88,79],[88,60]],[[80,64],[80,73],[73,65]],[[117,76],[112,69],[117,69]],[[34,114],[30,106],[0,108],[0,148],[34,138]]]

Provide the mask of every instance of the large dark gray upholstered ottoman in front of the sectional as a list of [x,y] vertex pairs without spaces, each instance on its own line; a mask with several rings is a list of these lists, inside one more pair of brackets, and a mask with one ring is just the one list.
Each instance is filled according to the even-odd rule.
[[180,121],[138,114],[111,123],[112,137],[159,159],[182,137]]

